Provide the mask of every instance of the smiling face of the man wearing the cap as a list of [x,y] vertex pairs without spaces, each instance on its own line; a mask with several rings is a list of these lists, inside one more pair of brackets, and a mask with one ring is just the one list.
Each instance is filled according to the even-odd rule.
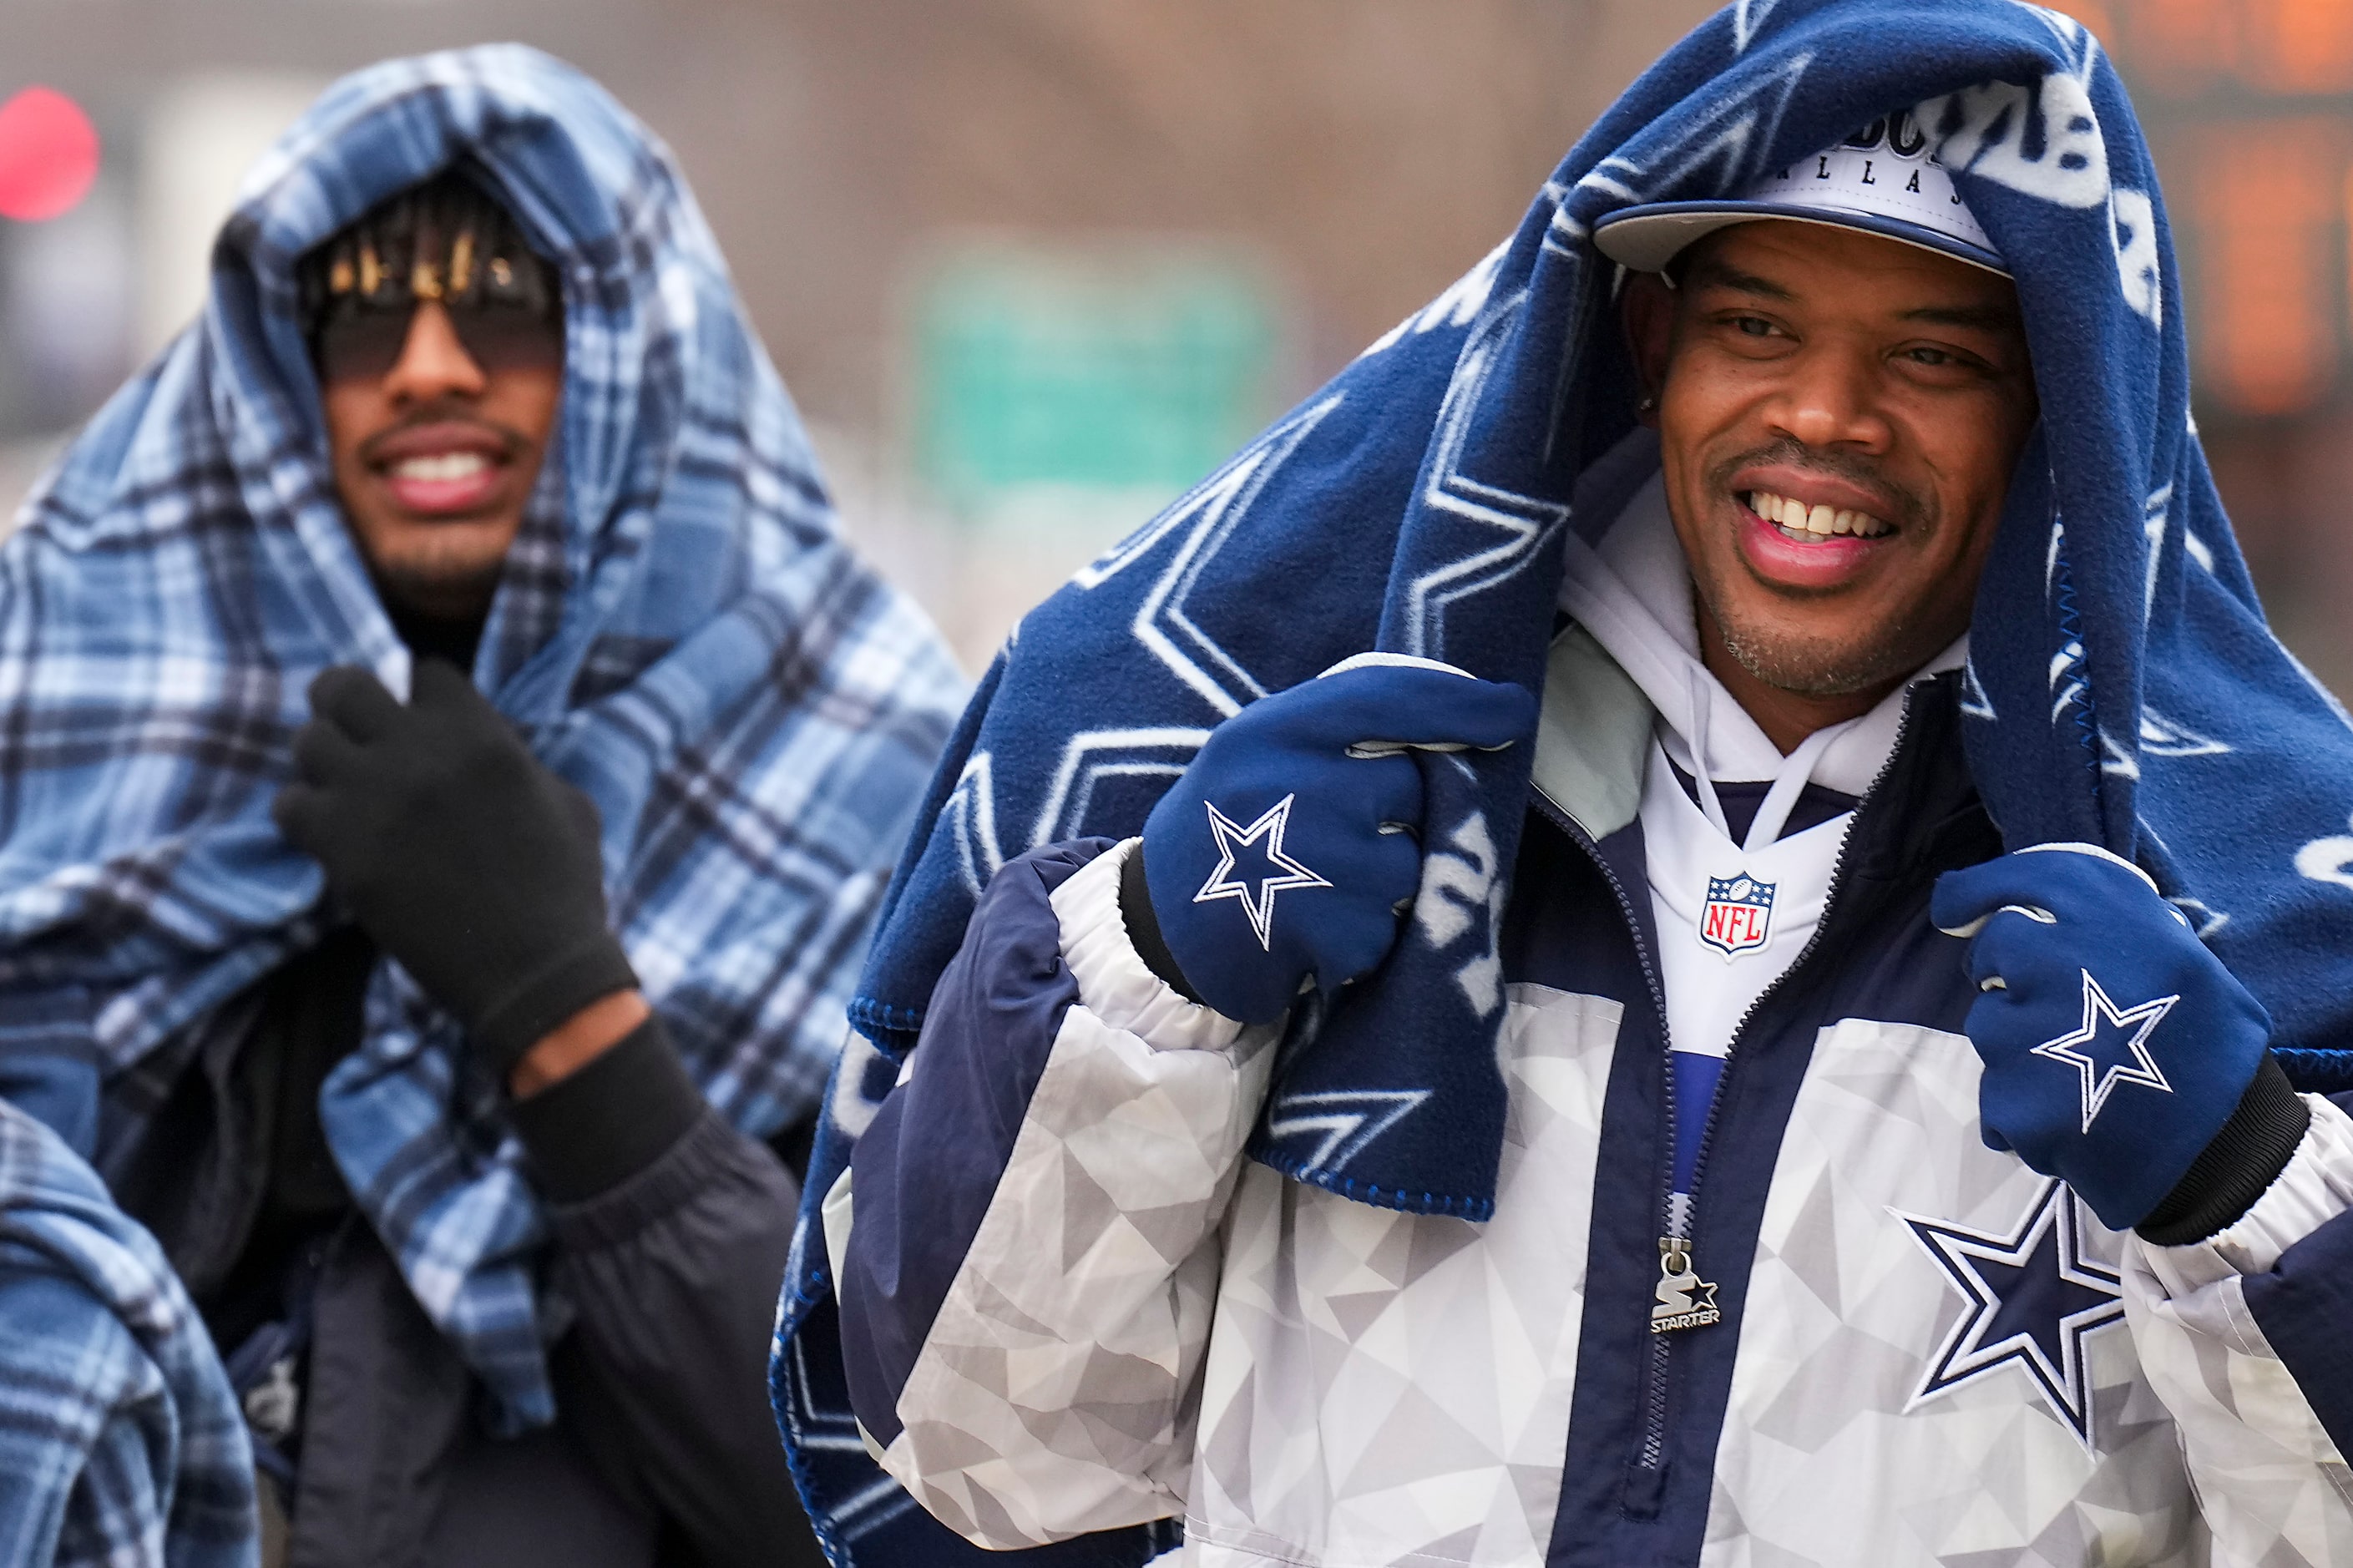
[[1967,631],[2035,421],[2026,327],[2000,273],[1857,228],[1739,224],[1675,273],[1626,294],[1645,421],[1708,671],[1793,751]]

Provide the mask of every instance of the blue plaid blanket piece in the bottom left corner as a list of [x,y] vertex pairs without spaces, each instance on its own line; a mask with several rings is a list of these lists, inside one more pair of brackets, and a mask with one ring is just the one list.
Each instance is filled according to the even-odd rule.
[[254,1455],[162,1248],[0,1099],[0,1561],[261,1561]]

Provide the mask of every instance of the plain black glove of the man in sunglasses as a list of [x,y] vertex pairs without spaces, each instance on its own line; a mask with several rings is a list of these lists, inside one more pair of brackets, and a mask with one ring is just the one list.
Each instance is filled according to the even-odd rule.
[[409,706],[365,669],[311,683],[296,784],[271,815],[501,1081],[544,1034],[638,984],[605,928],[595,805],[452,664]]

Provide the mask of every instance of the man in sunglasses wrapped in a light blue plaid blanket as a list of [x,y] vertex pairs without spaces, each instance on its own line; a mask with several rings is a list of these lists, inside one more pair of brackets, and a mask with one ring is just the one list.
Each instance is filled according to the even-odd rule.
[[668,153],[520,47],[329,89],[0,666],[0,1050],[85,1064],[264,1561],[816,1563],[788,1158],[962,692]]

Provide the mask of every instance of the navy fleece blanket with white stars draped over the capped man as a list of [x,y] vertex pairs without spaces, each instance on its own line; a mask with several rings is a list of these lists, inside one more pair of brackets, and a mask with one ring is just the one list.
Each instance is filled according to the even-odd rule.
[[[1024,619],[892,885],[852,1005],[882,1055],[842,1062],[812,1205],[1007,857],[1136,833],[1212,725],[1367,647],[1541,683],[1562,532],[1609,523],[1577,511],[1579,476],[1633,426],[1593,224],[1741,195],[1901,108],[2017,266],[2042,403],[1974,612],[1965,744],[1986,805],[2009,845],[2148,866],[2271,1010],[2289,1069],[2327,1076],[2353,1022],[2353,730],[2264,624],[2207,476],[2165,205],[2115,71],[2082,26],[2009,0],[1741,0],[1586,132],[1511,240]],[[1433,791],[1398,949],[1294,1017],[1252,1154],[1478,1220],[1529,746],[1464,760],[1468,784]],[[788,1340],[824,1333],[824,1250],[805,1241],[800,1264]],[[856,1561],[894,1561],[880,1542],[920,1526],[878,1523],[894,1504],[859,1490],[814,1340],[779,1356],[779,1408],[807,1431],[819,1516],[871,1537]],[[941,1556],[908,1561],[953,1544],[934,1533]]]

